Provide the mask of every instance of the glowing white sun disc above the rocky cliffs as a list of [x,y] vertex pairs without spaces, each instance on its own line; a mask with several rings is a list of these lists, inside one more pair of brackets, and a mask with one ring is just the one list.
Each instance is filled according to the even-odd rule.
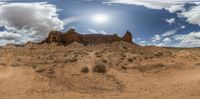
[[92,21],[97,24],[107,23],[109,21],[109,16],[106,14],[95,14],[92,16]]

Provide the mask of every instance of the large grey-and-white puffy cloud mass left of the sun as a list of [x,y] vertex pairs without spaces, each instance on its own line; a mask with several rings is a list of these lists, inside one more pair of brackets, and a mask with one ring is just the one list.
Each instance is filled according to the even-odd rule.
[[[15,43],[40,41],[51,30],[63,29],[57,11],[55,5],[46,2],[4,3],[0,5],[0,27],[5,27],[1,39],[13,39]],[[22,36],[18,41],[17,35]]]

